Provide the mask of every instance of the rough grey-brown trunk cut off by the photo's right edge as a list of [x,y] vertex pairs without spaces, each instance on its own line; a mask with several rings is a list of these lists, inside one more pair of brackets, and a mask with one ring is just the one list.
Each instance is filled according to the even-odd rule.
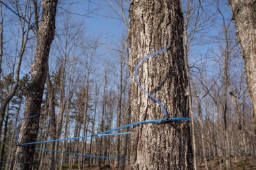
[[245,79],[253,104],[256,132],[256,0],[230,0],[229,4],[245,59]]

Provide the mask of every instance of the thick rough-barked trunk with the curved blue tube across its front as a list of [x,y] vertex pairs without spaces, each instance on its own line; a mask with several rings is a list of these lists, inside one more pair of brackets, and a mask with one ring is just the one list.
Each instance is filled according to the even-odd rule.
[[[144,56],[171,45],[150,58],[138,73],[141,86],[153,93],[168,116],[189,118],[189,84],[183,53],[183,13],[179,0],[131,1],[129,43],[132,122],[164,118],[161,108],[133,80]],[[187,122],[135,126],[131,135],[132,169],[193,169]]]

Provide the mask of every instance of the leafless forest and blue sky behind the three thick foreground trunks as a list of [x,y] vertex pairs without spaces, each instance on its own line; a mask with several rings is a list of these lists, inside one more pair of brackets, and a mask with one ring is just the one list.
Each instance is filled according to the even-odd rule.
[[[17,144],[14,126],[18,122],[19,131],[36,50],[32,2],[0,3],[1,109],[6,103],[0,119],[2,169],[13,166]],[[40,13],[40,2],[35,2]],[[228,1],[183,0],[181,5],[193,101],[195,167],[224,169],[228,164],[253,169],[255,122]],[[55,138],[69,138],[131,122],[128,10],[129,1],[123,0],[59,1],[37,140],[51,139],[53,130]],[[50,144],[39,147],[49,148]],[[55,149],[129,158],[129,136],[56,142]],[[51,154],[36,151],[34,169],[49,166]],[[63,153],[55,153],[54,158],[59,169],[125,164]]]

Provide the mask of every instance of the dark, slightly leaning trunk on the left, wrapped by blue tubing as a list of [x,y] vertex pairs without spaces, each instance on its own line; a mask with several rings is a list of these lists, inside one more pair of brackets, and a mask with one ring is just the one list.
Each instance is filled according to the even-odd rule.
[[[48,69],[51,43],[55,36],[55,15],[57,0],[42,1],[42,19],[38,30],[38,43],[34,63],[30,69],[31,81],[26,93],[24,117],[40,114],[44,83]],[[19,140],[21,143],[36,140],[39,117],[25,119],[22,122]],[[32,169],[35,145],[18,146],[15,155],[15,170]]]

